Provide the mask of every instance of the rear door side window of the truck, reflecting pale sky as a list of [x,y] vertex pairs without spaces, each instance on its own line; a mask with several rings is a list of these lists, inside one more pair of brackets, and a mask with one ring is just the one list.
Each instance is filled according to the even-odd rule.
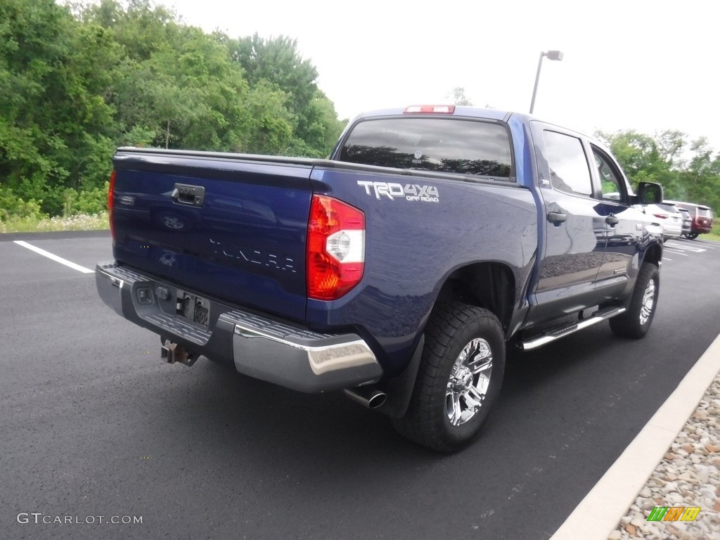
[[592,195],[593,181],[580,139],[554,131],[545,131],[544,138],[552,186],[574,195]]

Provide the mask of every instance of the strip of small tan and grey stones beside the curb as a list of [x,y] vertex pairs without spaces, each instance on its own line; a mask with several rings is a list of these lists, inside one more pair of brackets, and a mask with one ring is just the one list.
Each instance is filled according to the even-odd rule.
[[[608,540],[720,539],[720,374]],[[695,521],[647,521],[655,506],[700,507]]]

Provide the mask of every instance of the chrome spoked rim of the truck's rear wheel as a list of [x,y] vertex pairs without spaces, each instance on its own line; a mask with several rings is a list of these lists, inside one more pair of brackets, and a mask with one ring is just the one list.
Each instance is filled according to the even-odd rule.
[[482,407],[492,373],[492,348],[485,339],[475,338],[455,360],[450,372],[445,406],[453,426],[471,420]]

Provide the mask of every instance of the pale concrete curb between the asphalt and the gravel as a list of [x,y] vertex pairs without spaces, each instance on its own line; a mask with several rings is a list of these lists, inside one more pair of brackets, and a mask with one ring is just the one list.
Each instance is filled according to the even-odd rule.
[[720,336],[550,540],[607,540],[720,371]]

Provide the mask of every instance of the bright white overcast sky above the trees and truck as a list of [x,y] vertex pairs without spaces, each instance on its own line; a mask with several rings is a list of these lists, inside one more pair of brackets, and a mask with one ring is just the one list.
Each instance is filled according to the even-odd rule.
[[446,103],[527,112],[592,134],[677,129],[720,151],[720,4],[713,0],[159,0],[231,37],[287,35],[341,117]]

